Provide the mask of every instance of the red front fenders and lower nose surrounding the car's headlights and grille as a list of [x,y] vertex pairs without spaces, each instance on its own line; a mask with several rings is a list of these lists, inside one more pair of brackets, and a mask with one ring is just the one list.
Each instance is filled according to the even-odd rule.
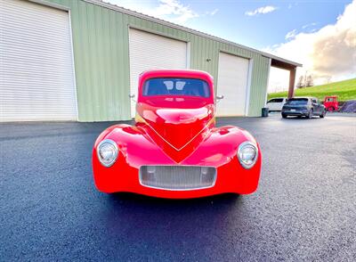
[[[220,192],[255,192],[261,171],[262,155],[255,138],[239,127],[214,127],[206,132],[205,140],[182,162],[176,163],[147,135],[143,128],[116,125],[105,130],[93,148],[94,183],[101,192],[141,192],[162,197],[174,197],[174,192],[165,192],[142,187],[137,177],[141,166],[182,165],[206,166],[217,169],[218,179],[214,188],[198,192],[177,192],[177,197],[194,197]],[[116,162],[103,167],[96,154],[96,146],[103,139],[117,143]],[[257,145],[259,155],[255,166],[243,168],[238,160],[240,143],[250,141]],[[220,178],[219,178],[220,177]],[[223,178],[223,179],[221,179]]]

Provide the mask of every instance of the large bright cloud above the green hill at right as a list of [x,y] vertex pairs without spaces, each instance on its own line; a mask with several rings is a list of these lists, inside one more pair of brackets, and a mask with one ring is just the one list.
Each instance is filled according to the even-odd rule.
[[[334,24],[309,33],[287,34],[286,43],[272,45],[263,51],[274,53],[291,61],[303,63],[297,77],[305,71],[312,74],[314,84],[356,77],[356,0],[346,5]],[[282,78],[280,78],[282,79]],[[287,80],[282,79],[287,88]],[[278,74],[270,83],[279,81]],[[271,86],[271,85],[270,85]],[[272,87],[271,87],[272,88]]]

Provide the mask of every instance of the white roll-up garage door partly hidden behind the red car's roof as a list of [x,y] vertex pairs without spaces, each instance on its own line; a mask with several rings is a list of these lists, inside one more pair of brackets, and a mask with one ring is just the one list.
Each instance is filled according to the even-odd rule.
[[[130,29],[130,92],[136,94],[139,75],[144,70],[186,69],[187,43]],[[135,103],[131,102],[131,116]]]

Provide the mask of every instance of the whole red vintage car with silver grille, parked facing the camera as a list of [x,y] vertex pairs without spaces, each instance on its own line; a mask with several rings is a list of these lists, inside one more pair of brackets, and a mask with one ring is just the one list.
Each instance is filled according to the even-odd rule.
[[135,125],[109,127],[94,144],[98,190],[162,198],[255,192],[260,147],[244,129],[215,127],[214,101],[206,72],[143,72]]

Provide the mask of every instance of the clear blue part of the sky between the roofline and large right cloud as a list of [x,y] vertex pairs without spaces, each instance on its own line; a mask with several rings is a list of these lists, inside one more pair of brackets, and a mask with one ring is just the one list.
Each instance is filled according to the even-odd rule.
[[[155,1],[156,2],[156,1]],[[183,24],[216,37],[223,37],[242,45],[262,49],[285,41],[288,32],[309,32],[335,23],[352,1],[181,1],[198,13],[198,17]],[[276,10],[254,16],[246,12],[262,6]],[[214,15],[206,12],[217,12]],[[316,23],[316,24],[314,24]],[[303,29],[303,26],[310,25]]]

